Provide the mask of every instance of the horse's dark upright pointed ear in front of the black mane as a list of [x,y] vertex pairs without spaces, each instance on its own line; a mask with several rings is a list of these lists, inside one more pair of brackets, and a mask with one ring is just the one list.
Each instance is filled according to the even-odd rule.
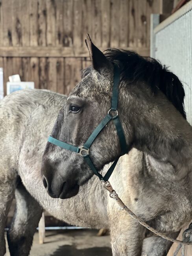
[[92,67],[100,71],[102,68],[111,67],[110,61],[105,57],[105,55],[92,43],[89,34],[87,34],[87,39],[85,39],[85,43],[89,50],[90,61],[92,63]]

